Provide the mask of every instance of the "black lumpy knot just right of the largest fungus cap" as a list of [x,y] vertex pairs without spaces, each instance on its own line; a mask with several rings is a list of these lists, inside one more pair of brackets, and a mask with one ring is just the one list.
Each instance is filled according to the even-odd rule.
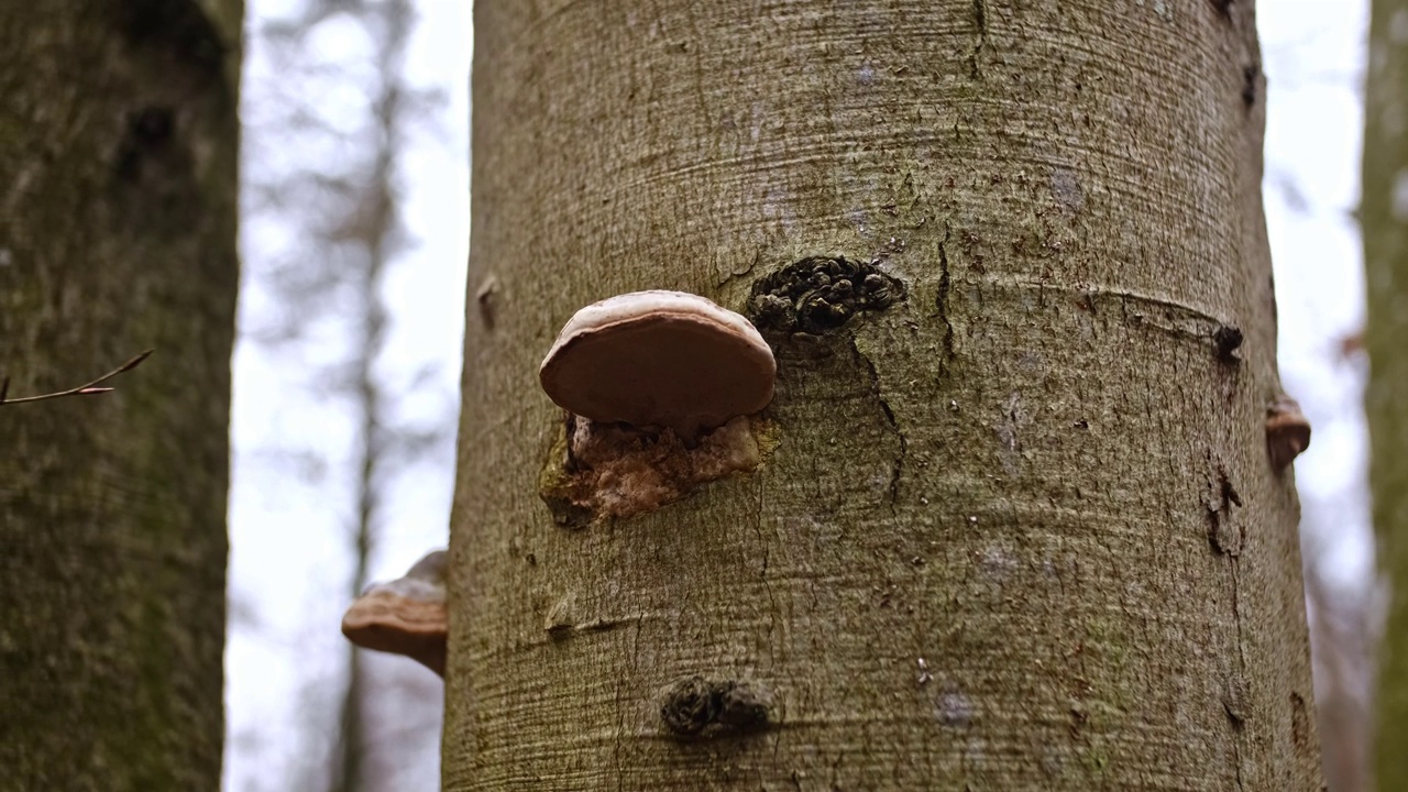
[[880,272],[874,262],[810,256],[753,285],[748,317],[763,331],[819,335],[904,296],[904,283]]

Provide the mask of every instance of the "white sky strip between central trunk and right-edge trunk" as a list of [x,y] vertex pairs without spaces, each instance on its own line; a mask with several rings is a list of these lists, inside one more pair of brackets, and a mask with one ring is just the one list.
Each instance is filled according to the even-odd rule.
[[1267,75],[1267,230],[1286,390],[1311,420],[1295,461],[1307,561],[1339,586],[1373,575],[1363,361],[1345,340],[1364,324],[1359,206],[1369,7],[1362,0],[1257,3]]

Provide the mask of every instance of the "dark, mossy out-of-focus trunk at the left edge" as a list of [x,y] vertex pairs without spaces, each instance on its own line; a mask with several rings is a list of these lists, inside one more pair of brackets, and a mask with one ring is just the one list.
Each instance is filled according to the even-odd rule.
[[239,0],[0,4],[0,789],[217,789]]

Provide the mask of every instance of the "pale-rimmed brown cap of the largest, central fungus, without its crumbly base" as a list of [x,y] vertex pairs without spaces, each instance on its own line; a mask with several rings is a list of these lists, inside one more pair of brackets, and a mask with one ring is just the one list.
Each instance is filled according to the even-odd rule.
[[548,396],[593,421],[684,441],[773,400],[777,364],[743,316],[698,295],[632,292],[576,313],[542,361]]

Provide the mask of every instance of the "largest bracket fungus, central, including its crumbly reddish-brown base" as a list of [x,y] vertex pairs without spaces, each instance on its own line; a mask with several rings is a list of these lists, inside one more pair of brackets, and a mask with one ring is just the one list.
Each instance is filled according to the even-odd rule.
[[559,523],[659,509],[755,469],[777,364],[748,318],[684,292],[632,292],[579,310],[538,371],[567,410],[543,471]]

